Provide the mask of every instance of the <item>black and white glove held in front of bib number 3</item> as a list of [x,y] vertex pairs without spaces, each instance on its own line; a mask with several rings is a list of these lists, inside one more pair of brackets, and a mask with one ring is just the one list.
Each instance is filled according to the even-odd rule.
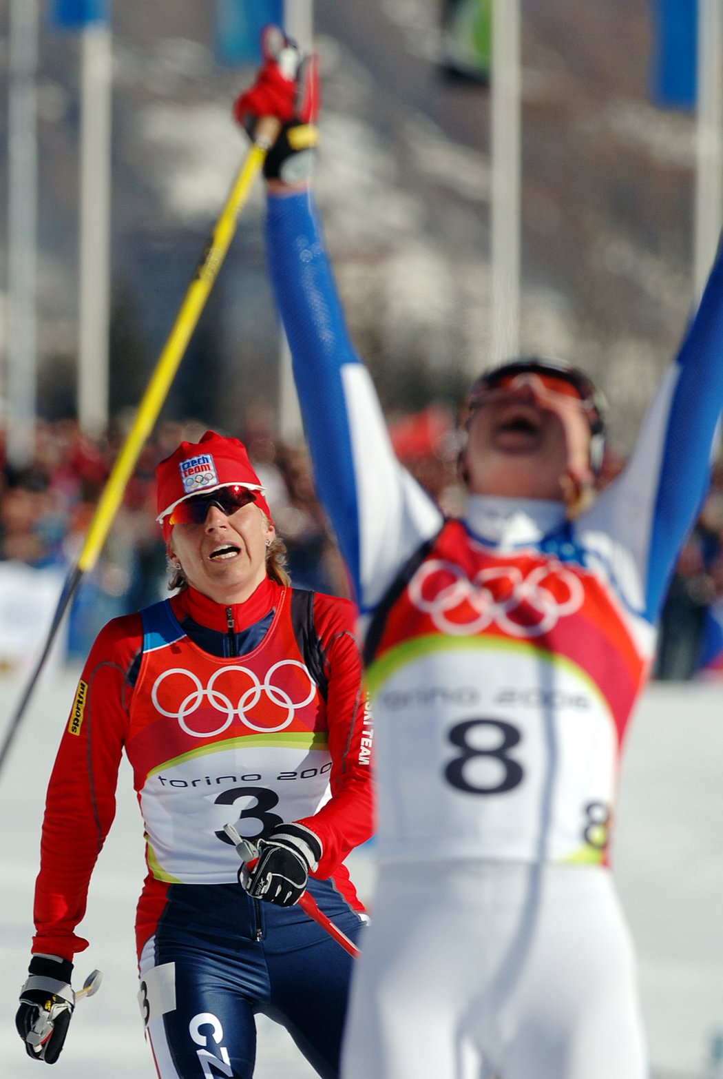
[[304,824],[277,824],[268,839],[259,839],[259,857],[238,870],[238,884],[255,899],[278,906],[297,903],[309,871],[322,857],[322,844]]

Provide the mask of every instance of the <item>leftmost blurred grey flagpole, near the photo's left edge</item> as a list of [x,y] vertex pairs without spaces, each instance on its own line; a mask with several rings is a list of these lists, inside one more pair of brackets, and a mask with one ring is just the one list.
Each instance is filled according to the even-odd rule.
[[11,0],[8,117],[8,459],[32,461],[36,427],[38,218],[37,0]]

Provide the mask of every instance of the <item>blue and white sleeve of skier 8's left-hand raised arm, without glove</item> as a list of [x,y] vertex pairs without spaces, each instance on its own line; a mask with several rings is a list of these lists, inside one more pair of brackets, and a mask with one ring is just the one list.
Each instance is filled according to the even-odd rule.
[[346,333],[311,195],[270,197],[267,228],[316,484],[366,611],[441,515],[394,455]]

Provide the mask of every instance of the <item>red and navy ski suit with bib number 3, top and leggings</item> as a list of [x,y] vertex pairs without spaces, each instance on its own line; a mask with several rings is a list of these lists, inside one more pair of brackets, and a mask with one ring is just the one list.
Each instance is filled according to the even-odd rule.
[[[338,1075],[350,957],[298,906],[253,900],[223,825],[296,820],[322,842],[309,882],[357,938],[343,865],[372,831],[370,716],[349,601],[265,579],[223,606],[188,588],[110,622],[84,666],[51,776],[33,952],[72,959],[124,751],[148,875],[136,918],[141,1012],[162,1079],[247,1079],[254,1015]],[[205,1063],[204,1063],[205,1062]],[[206,1070],[204,1070],[206,1069]]]

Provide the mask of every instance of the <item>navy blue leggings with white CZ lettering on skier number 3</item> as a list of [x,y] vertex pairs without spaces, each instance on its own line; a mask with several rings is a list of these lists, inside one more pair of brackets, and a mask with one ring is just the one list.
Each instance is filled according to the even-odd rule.
[[[362,920],[326,880],[319,907],[353,940]],[[337,1079],[354,960],[298,906],[259,903],[236,884],[173,885],[140,958],[141,1012],[160,1079],[251,1079],[255,1016],[289,1032]]]

